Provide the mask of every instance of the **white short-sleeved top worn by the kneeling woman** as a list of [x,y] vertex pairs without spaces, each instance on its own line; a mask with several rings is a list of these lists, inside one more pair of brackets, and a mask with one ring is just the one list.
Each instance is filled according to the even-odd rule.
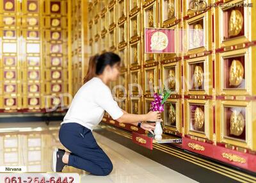
[[99,77],[93,77],[79,88],[61,125],[76,122],[92,131],[102,120],[104,110],[114,120],[124,114],[109,87]]

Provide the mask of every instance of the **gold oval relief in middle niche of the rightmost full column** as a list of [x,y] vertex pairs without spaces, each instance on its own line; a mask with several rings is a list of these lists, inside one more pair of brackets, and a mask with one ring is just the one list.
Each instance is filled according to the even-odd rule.
[[244,67],[239,60],[233,60],[229,70],[229,85],[238,86],[242,83]]

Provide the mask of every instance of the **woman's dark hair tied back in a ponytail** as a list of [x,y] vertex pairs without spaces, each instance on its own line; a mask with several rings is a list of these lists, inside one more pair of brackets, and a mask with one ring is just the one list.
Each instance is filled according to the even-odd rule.
[[112,67],[115,63],[120,63],[120,61],[120,56],[114,52],[104,52],[100,55],[96,54],[95,56],[91,56],[88,71],[84,77],[84,83],[92,79],[94,76],[102,74],[107,65]]

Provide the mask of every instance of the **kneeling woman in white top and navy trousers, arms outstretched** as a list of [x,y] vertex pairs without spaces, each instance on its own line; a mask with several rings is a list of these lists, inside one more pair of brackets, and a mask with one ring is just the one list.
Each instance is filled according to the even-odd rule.
[[56,148],[52,154],[53,171],[62,171],[64,166],[73,166],[93,175],[108,175],[113,170],[108,155],[99,147],[92,131],[102,120],[104,111],[120,123],[132,123],[148,131],[152,123],[161,118],[159,111],[145,115],[129,114],[118,107],[108,83],[116,81],[120,70],[120,57],[113,52],[96,55],[90,59],[85,84],[77,91],[61,122],[59,138],[70,152]]

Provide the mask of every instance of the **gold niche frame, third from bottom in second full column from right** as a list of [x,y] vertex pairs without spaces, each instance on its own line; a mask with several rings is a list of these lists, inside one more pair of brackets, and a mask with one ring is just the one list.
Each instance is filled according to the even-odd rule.
[[[203,20],[204,22],[204,46],[189,48],[189,25],[194,22],[198,22],[199,20]],[[211,40],[211,10],[197,15],[191,19],[186,19],[185,21],[185,29],[186,29],[186,54],[195,54],[197,52],[209,51],[212,49],[212,40]]]

